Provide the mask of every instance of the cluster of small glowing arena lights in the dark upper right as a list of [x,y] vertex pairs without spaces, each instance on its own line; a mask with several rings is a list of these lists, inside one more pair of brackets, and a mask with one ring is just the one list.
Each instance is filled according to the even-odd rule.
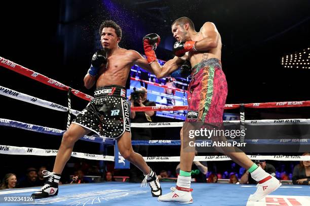
[[[281,65],[283,65],[284,68],[310,69],[308,68],[308,65],[309,65],[308,59],[310,59],[310,47],[296,51],[292,54],[286,54],[282,56]],[[285,66],[285,65],[290,65],[290,66]],[[300,65],[300,67],[298,67],[298,65]]]

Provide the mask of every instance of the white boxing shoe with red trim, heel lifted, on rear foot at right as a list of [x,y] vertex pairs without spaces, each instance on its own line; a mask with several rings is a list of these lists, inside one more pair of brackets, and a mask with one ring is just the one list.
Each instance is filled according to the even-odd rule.
[[249,201],[259,201],[278,189],[281,185],[281,182],[277,178],[269,175],[258,182],[256,185],[257,190],[254,194],[250,195]]

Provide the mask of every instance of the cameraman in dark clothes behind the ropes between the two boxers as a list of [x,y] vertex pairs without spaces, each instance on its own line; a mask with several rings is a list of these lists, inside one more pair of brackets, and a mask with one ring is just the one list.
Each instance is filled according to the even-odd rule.
[[[147,90],[141,87],[139,90],[144,91],[144,93],[139,93],[139,98],[134,100],[134,97],[129,97],[131,101],[131,108],[134,107],[146,107],[146,106],[156,106],[154,101],[147,99]],[[146,112],[134,112],[131,110],[131,122],[132,123],[147,123],[152,122],[156,112],[146,111]],[[150,140],[152,138],[152,133],[149,128],[131,128],[131,139],[132,140]],[[133,145],[133,150],[140,153],[140,155],[147,157],[148,155],[148,145]],[[144,179],[143,174],[136,168],[130,167],[130,181],[131,182],[141,182]]]

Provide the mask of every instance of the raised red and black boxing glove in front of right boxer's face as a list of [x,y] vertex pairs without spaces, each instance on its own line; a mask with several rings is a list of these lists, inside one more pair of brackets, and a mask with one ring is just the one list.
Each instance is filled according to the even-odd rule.
[[161,37],[158,34],[151,33],[144,36],[143,38],[144,54],[149,64],[154,61],[157,61],[157,57],[154,50],[157,48],[160,42]]

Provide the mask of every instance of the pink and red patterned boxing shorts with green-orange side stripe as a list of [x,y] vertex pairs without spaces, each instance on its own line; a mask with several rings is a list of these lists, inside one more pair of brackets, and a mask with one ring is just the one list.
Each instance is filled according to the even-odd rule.
[[227,82],[221,62],[203,60],[191,69],[186,122],[222,123]]

